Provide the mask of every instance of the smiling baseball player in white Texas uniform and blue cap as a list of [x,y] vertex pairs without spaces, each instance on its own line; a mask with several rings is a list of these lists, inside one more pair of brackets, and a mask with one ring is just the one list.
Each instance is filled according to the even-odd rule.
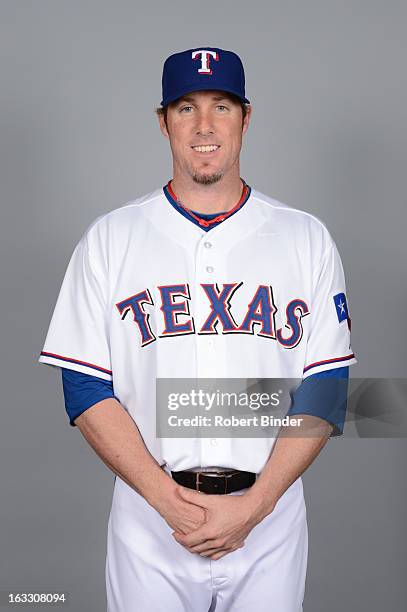
[[71,425],[116,474],[109,612],[298,612],[301,474],[343,415],[302,397],[291,414],[318,435],[160,438],[156,379],[346,378],[341,260],[318,218],[241,178],[251,105],[235,53],[171,55],[162,85],[172,179],[86,230],[40,361],[61,368]]

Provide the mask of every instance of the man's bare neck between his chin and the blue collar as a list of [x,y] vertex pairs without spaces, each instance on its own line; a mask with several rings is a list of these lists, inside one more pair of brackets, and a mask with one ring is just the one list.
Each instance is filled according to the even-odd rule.
[[233,176],[222,177],[213,185],[200,185],[189,176],[177,176],[171,181],[171,187],[183,206],[201,213],[228,212],[239,201],[243,183],[239,171]]

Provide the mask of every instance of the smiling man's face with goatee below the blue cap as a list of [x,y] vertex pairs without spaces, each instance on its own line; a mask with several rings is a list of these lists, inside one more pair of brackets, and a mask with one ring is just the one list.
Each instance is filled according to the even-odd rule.
[[193,92],[170,104],[167,124],[162,115],[159,120],[170,140],[174,174],[210,185],[238,167],[250,111],[242,121],[240,103],[221,91]]

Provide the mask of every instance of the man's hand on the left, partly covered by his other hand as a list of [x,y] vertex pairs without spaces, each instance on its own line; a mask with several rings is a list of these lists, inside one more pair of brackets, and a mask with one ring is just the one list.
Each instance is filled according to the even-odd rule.
[[206,512],[201,506],[185,501],[180,489],[182,486],[171,480],[159,498],[150,503],[174,531],[187,535],[206,522]]

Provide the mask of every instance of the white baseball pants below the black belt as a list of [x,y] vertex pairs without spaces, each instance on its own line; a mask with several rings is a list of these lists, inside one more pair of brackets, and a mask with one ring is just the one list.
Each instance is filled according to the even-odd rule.
[[188,552],[172,531],[116,477],[107,535],[108,612],[302,610],[308,531],[301,478],[244,547],[218,561]]

